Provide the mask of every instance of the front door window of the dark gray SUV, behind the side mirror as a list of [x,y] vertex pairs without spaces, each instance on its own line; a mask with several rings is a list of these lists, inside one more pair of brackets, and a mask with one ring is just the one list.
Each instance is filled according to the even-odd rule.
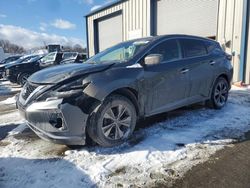
[[177,40],[166,40],[154,47],[150,54],[162,55],[162,62],[181,59],[181,50]]

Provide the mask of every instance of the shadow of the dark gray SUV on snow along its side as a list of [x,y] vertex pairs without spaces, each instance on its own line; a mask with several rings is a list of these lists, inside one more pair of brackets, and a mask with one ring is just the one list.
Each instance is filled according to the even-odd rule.
[[249,113],[249,106],[249,90],[232,90],[228,104],[221,110],[202,103],[186,106],[140,120],[133,136],[119,147],[88,146],[86,149],[100,155],[113,155],[134,150],[175,151],[189,144],[207,144],[207,141],[210,145],[220,145],[223,140],[238,141],[250,129],[250,118],[240,118]]

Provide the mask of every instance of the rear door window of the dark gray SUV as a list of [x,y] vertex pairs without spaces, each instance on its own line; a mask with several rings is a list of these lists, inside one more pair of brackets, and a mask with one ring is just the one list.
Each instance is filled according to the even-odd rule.
[[182,39],[181,44],[185,57],[189,58],[207,55],[207,49],[204,42],[201,40]]

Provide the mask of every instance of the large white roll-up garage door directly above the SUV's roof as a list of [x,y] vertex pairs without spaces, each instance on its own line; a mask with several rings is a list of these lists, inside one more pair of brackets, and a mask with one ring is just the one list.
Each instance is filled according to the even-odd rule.
[[216,36],[218,0],[157,0],[157,35]]

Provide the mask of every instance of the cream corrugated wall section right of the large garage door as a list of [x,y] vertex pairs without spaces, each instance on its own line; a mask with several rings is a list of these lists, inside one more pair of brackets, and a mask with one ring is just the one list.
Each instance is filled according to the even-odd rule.
[[[233,81],[241,81],[240,67],[242,62],[243,33],[243,0],[220,0],[217,40],[223,45],[230,42],[226,52],[235,53],[233,58],[234,78]],[[229,43],[228,43],[229,44]]]

